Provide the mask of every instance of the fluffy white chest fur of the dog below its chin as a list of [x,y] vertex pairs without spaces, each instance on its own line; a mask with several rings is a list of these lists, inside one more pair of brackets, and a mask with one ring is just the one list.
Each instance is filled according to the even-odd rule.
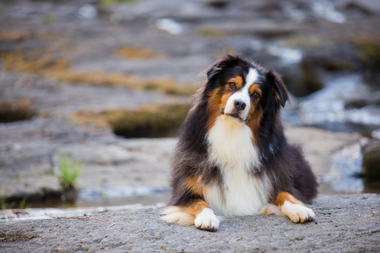
[[268,201],[270,183],[268,177],[260,179],[249,172],[260,165],[250,128],[219,117],[207,140],[209,158],[223,175],[222,187],[211,185],[204,190],[207,204],[216,215],[244,216],[260,212]]

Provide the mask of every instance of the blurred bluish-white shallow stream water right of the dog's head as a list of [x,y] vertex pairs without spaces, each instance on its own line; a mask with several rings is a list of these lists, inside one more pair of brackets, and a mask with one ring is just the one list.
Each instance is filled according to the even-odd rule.
[[[283,120],[331,131],[357,131],[371,137],[371,132],[380,127],[380,106],[374,102],[380,93],[372,91],[358,74],[326,75],[324,83],[325,87],[317,92],[293,98],[294,106],[285,108]],[[356,102],[364,104],[352,108],[350,104]]]

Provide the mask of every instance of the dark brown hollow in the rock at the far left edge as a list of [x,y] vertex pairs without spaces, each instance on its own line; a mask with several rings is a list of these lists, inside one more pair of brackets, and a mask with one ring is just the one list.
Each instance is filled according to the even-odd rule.
[[27,120],[35,114],[36,104],[28,98],[0,100],[0,123]]

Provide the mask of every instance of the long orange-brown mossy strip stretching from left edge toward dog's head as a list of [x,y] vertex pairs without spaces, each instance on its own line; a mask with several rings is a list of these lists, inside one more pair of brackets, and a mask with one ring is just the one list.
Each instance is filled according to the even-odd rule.
[[57,58],[51,52],[40,50],[2,54],[0,58],[3,60],[3,69],[6,71],[33,74],[61,82],[122,86],[135,90],[154,90],[173,95],[192,95],[198,88],[193,84],[177,85],[173,79],[167,77],[142,79],[120,72],[73,72],[70,70],[71,62],[69,59]]

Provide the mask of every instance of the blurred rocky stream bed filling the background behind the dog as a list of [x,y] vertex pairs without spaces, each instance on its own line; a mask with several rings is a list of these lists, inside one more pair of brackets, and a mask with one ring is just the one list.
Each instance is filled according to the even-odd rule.
[[283,76],[321,194],[380,193],[379,24],[378,0],[0,0],[0,221],[165,206],[225,53]]

